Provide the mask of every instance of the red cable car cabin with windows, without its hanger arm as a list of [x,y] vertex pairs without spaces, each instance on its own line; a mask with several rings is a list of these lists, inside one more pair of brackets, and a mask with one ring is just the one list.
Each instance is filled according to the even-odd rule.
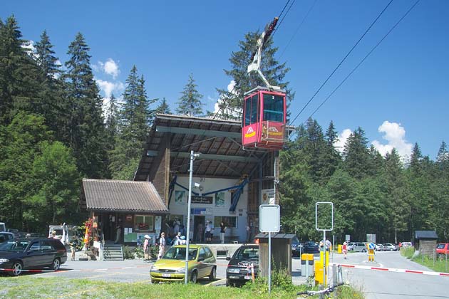
[[282,149],[287,121],[284,91],[258,86],[245,95],[242,145],[269,150]]

